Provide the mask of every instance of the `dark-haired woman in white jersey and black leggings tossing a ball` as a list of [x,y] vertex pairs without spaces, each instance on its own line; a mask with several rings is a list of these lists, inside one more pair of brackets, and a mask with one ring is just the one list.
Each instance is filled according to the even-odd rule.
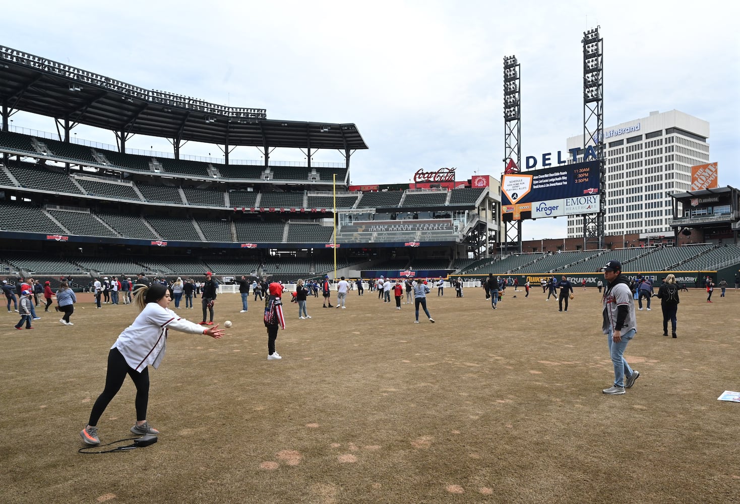
[[136,386],[136,423],[132,433],[157,435],[147,422],[149,404],[149,364],[154,369],[159,367],[164,357],[167,331],[174,329],[180,332],[191,332],[208,335],[214,339],[223,336],[218,325],[203,329],[196,323],[178,317],[167,305],[170,297],[166,286],[155,283],[152,286],[139,286],[134,292],[134,303],[141,310],[136,320],[121,332],[108,353],[108,371],[105,377],[105,389],[100,394],[90,412],[90,420],[80,432],[82,440],[88,445],[100,444],[98,438],[98,420],[108,403],[124,384],[128,374]]

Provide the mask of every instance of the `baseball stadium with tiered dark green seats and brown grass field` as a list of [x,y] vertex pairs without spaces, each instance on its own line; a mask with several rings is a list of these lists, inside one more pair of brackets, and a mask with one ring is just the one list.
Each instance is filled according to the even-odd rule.
[[[8,298],[5,503],[736,497],[736,412],[716,397],[740,389],[737,189],[673,193],[674,233],[657,243],[522,241],[520,228],[511,238],[517,221],[506,208],[516,201],[503,167],[466,180],[440,168],[408,184],[353,185],[351,159],[371,144],[361,124],[270,118],[10,47],[0,47],[0,75],[0,278],[34,278],[53,292],[65,281],[77,295],[73,323],[41,304],[33,331],[14,330]],[[53,118],[56,132],[12,122],[17,111]],[[76,138],[80,124],[112,132],[117,144]],[[172,152],[129,149],[133,135],[166,138]],[[187,142],[222,155],[181,154]],[[230,158],[235,147],[261,158]],[[276,148],[306,161],[274,159]],[[343,162],[314,163],[320,149]],[[528,208],[522,219],[533,218]],[[648,296],[647,310],[640,300],[626,355],[642,378],[622,397],[601,393],[612,369],[601,292],[614,261],[656,292],[668,275],[683,287],[673,338],[662,335],[660,300],[650,309]],[[219,284],[215,322],[233,326],[218,341],[169,338],[149,399],[159,443],[129,447],[127,381],[101,417],[103,444],[78,451],[105,355],[137,315],[125,305],[96,311],[93,282],[201,281],[206,272]],[[491,275],[515,280],[495,311],[482,288]],[[242,308],[242,276],[289,291],[327,278],[332,302],[340,278],[352,290],[346,310],[309,295],[311,320],[283,300],[284,358],[267,361],[265,303],[250,293]],[[371,287],[381,278],[423,280],[431,315],[420,319],[417,307],[415,325],[410,301],[391,309]],[[575,286],[570,311],[545,298],[551,278]],[[200,303],[178,314],[198,323]],[[122,453],[118,440],[136,449]]]

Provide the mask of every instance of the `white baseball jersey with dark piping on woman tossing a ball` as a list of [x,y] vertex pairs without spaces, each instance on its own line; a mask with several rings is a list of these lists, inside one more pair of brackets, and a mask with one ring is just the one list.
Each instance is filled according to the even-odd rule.
[[137,372],[141,373],[149,365],[157,369],[164,357],[168,329],[199,335],[206,330],[197,323],[178,317],[169,308],[147,303],[110,348],[118,349],[126,363]]

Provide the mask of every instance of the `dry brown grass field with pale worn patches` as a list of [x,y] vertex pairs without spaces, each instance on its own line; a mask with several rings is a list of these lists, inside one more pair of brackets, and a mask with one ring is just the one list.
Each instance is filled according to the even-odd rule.
[[[679,338],[661,312],[637,312],[626,356],[642,376],[606,396],[611,364],[599,295],[568,313],[482,290],[432,292],[437,323],[413,322],[377,295],[312,320],[288,304],[266,360],[260,304],[221,295],[226,337],[171,332],[152,370],[159,443],[78,454],[130,306],[78,303],[73,322],[41,313],[33,331],[0,329],[3,503],[734,503],[740,494],[740,293],[682,293]],[[198,305],[196,305],[198,306]],[[82,308],[85,309],[82,309]],[[42,310],[43,312],[43,310]],[[200,310],[181,310],[199,321]],[[101,418],[103,443],[129,437],[134,387]]]

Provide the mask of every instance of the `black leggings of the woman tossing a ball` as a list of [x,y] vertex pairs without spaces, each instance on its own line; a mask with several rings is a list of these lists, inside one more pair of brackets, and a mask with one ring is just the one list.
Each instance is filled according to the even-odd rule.
[[110,349],[108,352],[108,372],[105,375],[105,389],[103,393],[95,400],[95,404],[90,411],[89,426],[97,426],[98,420],[107,408],[115,394],[121,390],[126,375],[131,377],[136,386],[136,421],[147,420],[147,405],[149,404],[149,368],[144,368],[141,373],[136,372],[126,363],[126,359],[118,352],[118,349]]

